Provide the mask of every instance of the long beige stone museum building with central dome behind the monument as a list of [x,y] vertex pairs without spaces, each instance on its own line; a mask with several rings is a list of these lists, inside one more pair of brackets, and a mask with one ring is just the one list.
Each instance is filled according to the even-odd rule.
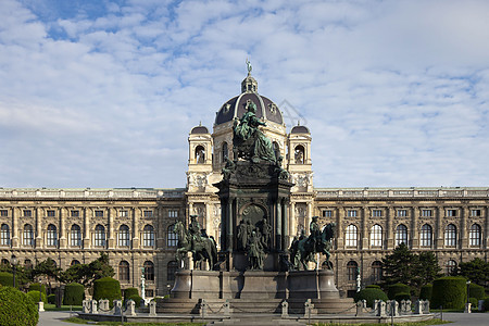
[[106,252],[122,287],[140,287],[145,278],[146,297],[168,293],[177,269],[176,222],[188,224],[196,214],[221,243],[213,185],[222,180],[226,159],[234,159],[233,126],[250,100],[293,184],[287,242],[309,233],[312,216],[319,225],[336,222],[331,262],[342,294],[355,291],[359,271],[362,286],[380,280],[381,258],[402,242],[414,252],[435,252],[447,274],[460,262],[488,260],[489,187],[314,187],[309,128],[287,133],[279,108],[259,95],[249,73],[241,92],[216,112],[212,134],[202,125],[191,129],[186,188],[0,188],[1,263],[12,254],[25,266],[51,258],[65,269]]

